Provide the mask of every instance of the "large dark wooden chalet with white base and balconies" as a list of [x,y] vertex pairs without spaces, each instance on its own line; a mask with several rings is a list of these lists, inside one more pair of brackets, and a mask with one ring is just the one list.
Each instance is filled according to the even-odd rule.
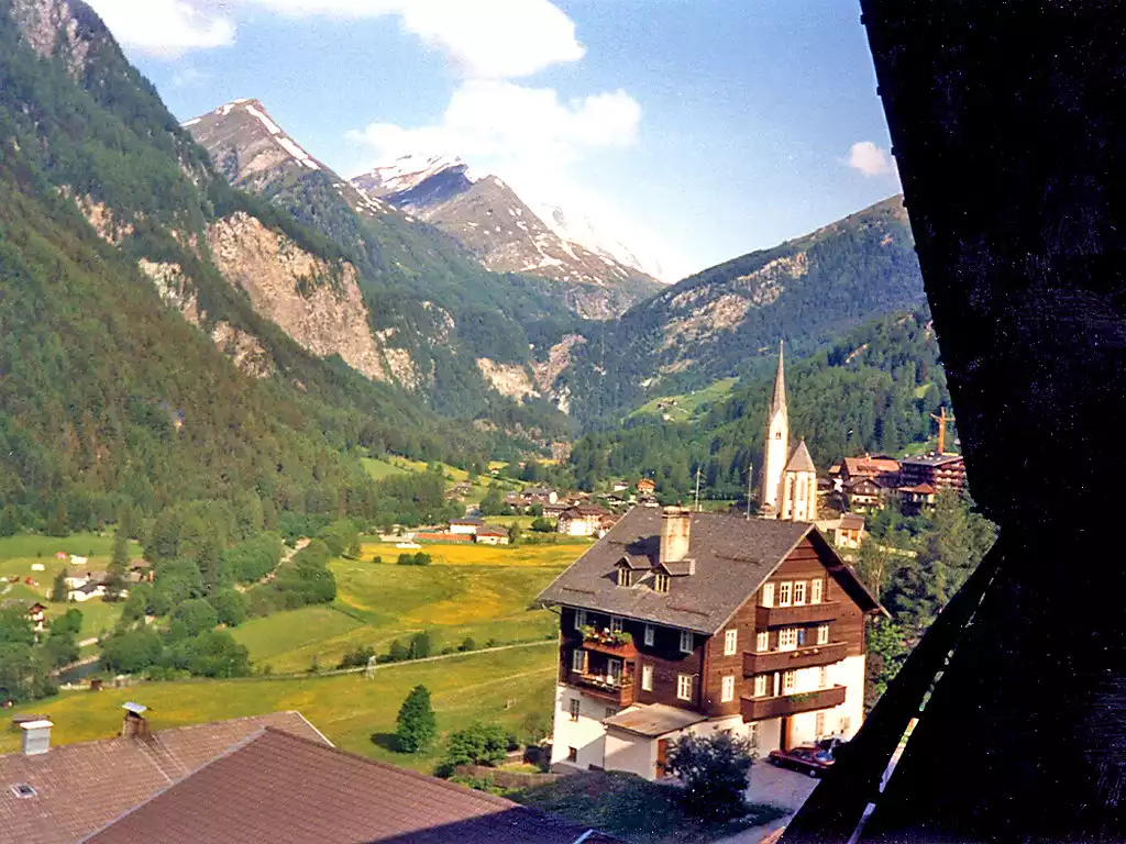
[[766,754],[864,716],[883,609],[812,524],[635,508],[540,600],[561,609],[554,763],[655,779],[685,731]]

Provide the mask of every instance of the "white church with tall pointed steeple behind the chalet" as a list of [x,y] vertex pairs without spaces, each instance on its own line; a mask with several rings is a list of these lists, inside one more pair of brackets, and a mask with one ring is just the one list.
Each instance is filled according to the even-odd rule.
[[786,376],[783,350],[778,348],[767,439],[762,455],[762,490],[759,514],[768,519],[812,522],[817,518],[817,470],[805,440],[789,446],[789,414],[786,410]]

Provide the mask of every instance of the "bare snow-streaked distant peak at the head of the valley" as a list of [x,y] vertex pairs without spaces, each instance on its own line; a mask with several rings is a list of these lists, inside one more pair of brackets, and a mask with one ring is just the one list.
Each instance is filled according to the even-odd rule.
[[404,155],[352,185],[373,201],[434,224],[488,269],[556,282],[556,296],[580,316],[609,320],[662,289],[627,263],[622,249],[578,241],[560,209],[545,219],[502,179],[471,174],[459,159]]

